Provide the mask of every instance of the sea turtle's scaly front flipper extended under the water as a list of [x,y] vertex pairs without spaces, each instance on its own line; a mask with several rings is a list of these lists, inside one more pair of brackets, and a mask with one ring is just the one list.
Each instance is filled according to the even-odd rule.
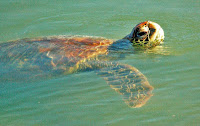
[[132,108],[139,108],[151,98],[153,87],[147,78],[130,65],[112,64],[98,71],[112,89],[123,95],[125,103]]

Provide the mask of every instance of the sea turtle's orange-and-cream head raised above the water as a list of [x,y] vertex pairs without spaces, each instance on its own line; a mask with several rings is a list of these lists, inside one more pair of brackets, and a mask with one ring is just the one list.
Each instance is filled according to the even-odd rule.
[[128,39],[134,44],[139,42],[147,44],[155,41],[161,43],[164,40],[164,31],[159,24],[145,21],[137,24],[131,33],[123,39]]

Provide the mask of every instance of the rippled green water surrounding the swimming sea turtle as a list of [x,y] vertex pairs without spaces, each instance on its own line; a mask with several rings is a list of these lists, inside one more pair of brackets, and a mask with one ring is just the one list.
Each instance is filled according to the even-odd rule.
[[199,125],[198,0],[1,0],[0,42],[49,35],[120,39],[145,20],[163,27],[165,44],[119,60],[154,87],[145,106],[129,108],[94,72],[0,82],[0,125]]

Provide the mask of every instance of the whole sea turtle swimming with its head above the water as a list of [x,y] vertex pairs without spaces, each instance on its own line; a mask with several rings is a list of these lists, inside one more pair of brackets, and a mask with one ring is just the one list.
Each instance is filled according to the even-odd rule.
[[[117,62],[131,43],[162,42],[164,32],[155,22],[136,25],[121,40],[89,36],[51,36],[0,44],[0,76],[3,81],[29,81],[84,70],[95,70],[128,106],[143,106],[153,87],[136,68]],[[158,44],[158,43],[156,43]],[[131,45],[131,46],[130,46]],[[155,46],[154,44],[151,44]],[[119,56],[120,57],[120,56]],[[113,62],[110,62],[112,60]]]

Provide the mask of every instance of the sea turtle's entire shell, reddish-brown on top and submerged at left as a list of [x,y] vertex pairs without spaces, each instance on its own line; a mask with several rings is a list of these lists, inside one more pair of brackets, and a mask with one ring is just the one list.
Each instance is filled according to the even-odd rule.
[[[80,63],[107,54],[112,43],[110,39],[89,36],[51,36],[2,43],[0,74],[12,80],[72,73]],[[20,75],[16,74],[18,71]]]

